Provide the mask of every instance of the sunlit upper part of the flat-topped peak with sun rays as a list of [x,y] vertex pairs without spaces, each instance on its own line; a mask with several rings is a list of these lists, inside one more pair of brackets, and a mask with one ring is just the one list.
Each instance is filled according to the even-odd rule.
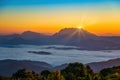
[[96,35],[84,30],[83,28],[64,28],[61,29],[58,33],[54,36],[56,37],[63,37],[63,38],[92,38],[96,37]]

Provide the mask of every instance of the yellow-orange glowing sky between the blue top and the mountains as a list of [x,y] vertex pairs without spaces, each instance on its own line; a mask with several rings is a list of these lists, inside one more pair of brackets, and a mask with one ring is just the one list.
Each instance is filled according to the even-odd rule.
[[62,28],[84,26],[97,35],[120,34],[119,9],[45,9],[3,10],[0,12],[0,34],[26,30],[53,34]]

